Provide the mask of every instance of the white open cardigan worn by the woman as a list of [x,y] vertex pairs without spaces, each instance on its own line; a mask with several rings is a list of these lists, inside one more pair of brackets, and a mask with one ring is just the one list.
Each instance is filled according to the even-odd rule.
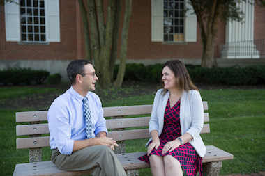
[[[162,90],[163,89],[160,89],[156,93],[153,101],[151,120],[149,122],[149,134],[151,131],[156,130],[158,131],[158,136],[162,133],[165,108],[169,98],[169,91],[165,95],[162,95]],[[206,154],[206,147],[201,136],[199,136],[204,125],[204,109],[202,97],[197,90],[190,90],[189,93],[184,91],[181,95],[180,122],[181,135],[185,133],[190,134],[193,139],[189,143],[195,148],[200,157],[204,157]],[[152,138],[146,143],[146,147],[151,139]]]

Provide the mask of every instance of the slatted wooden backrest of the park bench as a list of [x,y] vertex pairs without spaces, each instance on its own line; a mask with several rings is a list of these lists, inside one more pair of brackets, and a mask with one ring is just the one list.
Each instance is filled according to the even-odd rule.
[[[203,104],[204,110],[208,110],[207,102],[203,102]],[[112,129],[112,131],[109,131],[109,137],[114,138],[116,141],[149,138],[148,126],[152,107],[153,105],[104,107],[104,116],[112,117],[112,119],[106,120],[107,129]],[[123,118],[126,115],[149,115],[149,117]],[[16,127],[17,136],[29,135],[29,138],[17,138],[17,149],[50,146],[47,111],[17,112],[16,122],[29,122],[29,125],[17,125]],[[204,113],[204,122],[209,122],[208,113]],[[146,128],[126,129],[130,127]],[[201,133],[203,134],[209,132],[209,124],[204,124]]]

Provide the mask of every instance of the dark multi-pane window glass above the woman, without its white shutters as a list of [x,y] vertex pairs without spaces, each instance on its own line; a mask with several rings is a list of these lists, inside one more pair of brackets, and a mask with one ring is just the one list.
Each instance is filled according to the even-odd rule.
[[184,1],[164,1],[164,41],[184,41]]

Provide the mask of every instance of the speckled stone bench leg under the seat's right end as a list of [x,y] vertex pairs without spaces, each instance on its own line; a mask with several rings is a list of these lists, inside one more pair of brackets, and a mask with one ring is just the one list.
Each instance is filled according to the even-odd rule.
[[206,176],[218,176],[222,168],[222,161],[202,163],[202,170]]

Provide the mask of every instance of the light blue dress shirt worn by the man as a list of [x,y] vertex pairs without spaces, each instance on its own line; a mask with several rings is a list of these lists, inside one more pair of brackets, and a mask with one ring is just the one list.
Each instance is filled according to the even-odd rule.
[[[100,131],[107,133],[106,120],[103,117],[102,104],[98,95],[88,92],[92,122],[92,138]],[[73,87],[57,97],[48,111],[51,149],[58,148],[61,154],[72,154],[75,140],[86,139],[86,122],[82,95]]]

